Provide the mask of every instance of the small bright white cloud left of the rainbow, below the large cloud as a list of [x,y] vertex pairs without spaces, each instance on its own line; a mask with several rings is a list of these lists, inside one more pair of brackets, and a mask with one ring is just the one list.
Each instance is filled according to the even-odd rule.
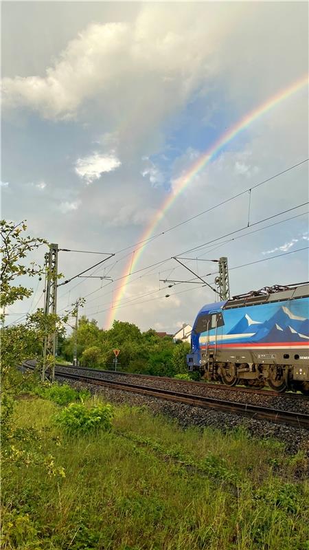
[[121,164],[113,153],[108,155],[93,153],[88,157],[77,159],[75,171],[89,185],[95,179],[99,179],[104,172],[112,172]]

